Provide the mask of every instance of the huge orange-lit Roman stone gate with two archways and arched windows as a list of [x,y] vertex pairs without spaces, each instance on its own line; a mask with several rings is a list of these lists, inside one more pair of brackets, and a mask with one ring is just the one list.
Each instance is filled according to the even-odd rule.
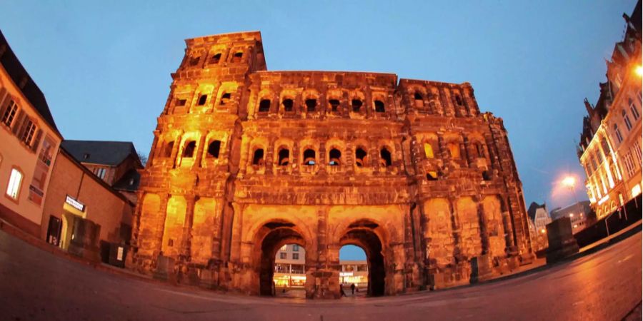
[[129,266],[271,295],[306,250],[306,297],[339,297],[357,245],[369,295],[475,282],[533,258],[502,118],[469,83],[267,71],[257,31],[186,40],[141,170]]

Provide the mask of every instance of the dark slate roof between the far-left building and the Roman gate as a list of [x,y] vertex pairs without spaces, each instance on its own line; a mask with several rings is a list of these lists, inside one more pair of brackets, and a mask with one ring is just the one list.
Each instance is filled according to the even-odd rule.
[[[70,141],[60,144],[76,161],[100,165],[116,166],[133,155],[136,159],[136,148],[131,141]],[[139,161],[140,163],[140,161]]]

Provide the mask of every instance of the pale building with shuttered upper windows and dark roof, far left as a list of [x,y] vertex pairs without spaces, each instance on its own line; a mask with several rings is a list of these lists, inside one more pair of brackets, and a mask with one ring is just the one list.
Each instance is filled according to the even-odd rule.
[[0,219],[34,236],[62,136],[44,94],[0,32]]

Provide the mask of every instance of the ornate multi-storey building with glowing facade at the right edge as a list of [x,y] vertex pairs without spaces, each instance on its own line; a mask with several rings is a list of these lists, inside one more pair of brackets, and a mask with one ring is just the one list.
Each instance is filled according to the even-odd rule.
[[595,106],[585,99],[579,160],[587,195],[601,219],[641,194],[641,1],[627,24],[622,41],[607,61],[607,81],[600,83]]

